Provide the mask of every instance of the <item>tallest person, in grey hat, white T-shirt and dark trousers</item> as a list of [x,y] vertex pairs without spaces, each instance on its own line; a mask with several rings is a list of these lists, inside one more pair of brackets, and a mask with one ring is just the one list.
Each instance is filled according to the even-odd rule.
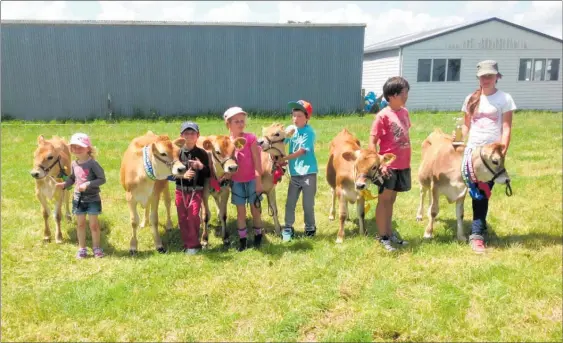
[[[479,89],[465,98],[461,111],[465,113],[465,124],[462,125],[463,139],[469,134],[467,148],[475,148],[490,143],[501,143],[502,154],[506,156],[510,145],[512,130],[512,111],[516,105],[510,94],[496,88],[502,74],[498,64],[492,60],[477,64]],[[494,183],[489,182],[489,190]],[[488,192],[480,190],[481,200],[472,199],[473,223],[469,243],[476,253],[484,253],[487,232],[487,211],[489,209]]]

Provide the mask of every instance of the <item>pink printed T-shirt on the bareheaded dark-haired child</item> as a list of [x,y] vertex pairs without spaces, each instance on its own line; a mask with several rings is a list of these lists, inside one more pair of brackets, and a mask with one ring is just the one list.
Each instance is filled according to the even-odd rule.
[[389,164],[392,169],[407,169],[411,166],[411,141],[409,111],[401,108],[393,111],[389,106],[377,114],[371,126],[371,135],[379,138],[379,154],[395,154],[397,158]]

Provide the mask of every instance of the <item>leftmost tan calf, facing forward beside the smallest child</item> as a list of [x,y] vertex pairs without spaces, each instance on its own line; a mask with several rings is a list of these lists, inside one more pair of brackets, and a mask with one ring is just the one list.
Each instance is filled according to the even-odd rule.
[[51,230],[49,228],[49,202],[54,200],[55,203],[55,224],[57,243],[63,242],[63,234],[61,231],[62,205],[65,204],[66,218],[71,221],[69,210],[69,202],[71,191],[61,190],[55,187],[56,182],[62,182],[62,176],[70,175],[70,148],[64,139],[53,136],[51,139],[45,139],[43,135],[37,137],[37,149],[33,155],[33,169],[31,176],[35,179],[35,196],[41,203],[43,209],[43,220],[45,228],[43,229],[43,240],[51,240]]

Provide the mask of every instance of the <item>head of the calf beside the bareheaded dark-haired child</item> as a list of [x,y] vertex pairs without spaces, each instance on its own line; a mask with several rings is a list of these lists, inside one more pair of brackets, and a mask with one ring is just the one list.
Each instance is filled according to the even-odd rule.
[[357,190],[365,189],[369,183],[383,182],[381,167],[391,163],[394,154],[379,155],[373,150],[358,149],[342,153],[342,157],[354,164],[354,184]]

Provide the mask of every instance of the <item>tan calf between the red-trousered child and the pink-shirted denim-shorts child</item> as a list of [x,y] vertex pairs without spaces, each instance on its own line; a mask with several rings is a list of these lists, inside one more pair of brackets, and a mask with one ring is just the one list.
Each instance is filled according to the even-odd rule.
[[209,244],[209,195],[215,199],[217,213],[221,221],[221,237],[223,244],[229,245],[227,233],[227,203],[231,192],[230,180],[225,173],[235,173],[238,170],[235,161],[235,146],[244,146],[246,140],[237,138],[234,142],[228,136],[200,136],[197,146],[205,149],[209,157],[211,166],[211,176],[205,180],[203,187],[203,206],[201,207],[201,217],[203,222],[203,232],[201,235],[201,245],[207,247]]

